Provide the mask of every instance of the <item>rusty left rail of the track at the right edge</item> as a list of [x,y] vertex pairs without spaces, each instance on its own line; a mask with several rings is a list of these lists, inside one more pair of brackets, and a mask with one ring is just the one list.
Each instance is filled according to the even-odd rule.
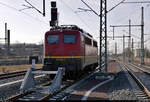
[[[123,63],[122,63],[123,64]],[[123,64],[124,68],[127,70],[127,72],[132,76],[132,78],[136,81],[138,86],[144,91],[144,93],[148,96],[150,99],[150,91],[143,85],[143,83],[129,70],[129,68]]]

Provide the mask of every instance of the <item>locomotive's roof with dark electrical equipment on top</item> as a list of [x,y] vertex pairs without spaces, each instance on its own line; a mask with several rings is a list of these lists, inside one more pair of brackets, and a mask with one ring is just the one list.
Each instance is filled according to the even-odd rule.
[[76,25],[61,25],[61,26],[52,27],[50,29],[50,31],[57,31],[57,30],[77,30],[77,31],[82,32],[83,35],[88,36],[88,37],[93,39],[92,35],[90,35],[89,33],[85,32],[83,29],[79,28]]

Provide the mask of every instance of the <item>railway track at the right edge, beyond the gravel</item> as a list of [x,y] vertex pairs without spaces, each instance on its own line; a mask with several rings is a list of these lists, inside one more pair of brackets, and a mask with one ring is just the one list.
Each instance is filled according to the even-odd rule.
[[[135,94],[139,99],[150,101],[150,73],[133,64],[123,64],[124,68],[135,80],[141,91],[136,91]],[[146,79],[145,79],[146,78]]]

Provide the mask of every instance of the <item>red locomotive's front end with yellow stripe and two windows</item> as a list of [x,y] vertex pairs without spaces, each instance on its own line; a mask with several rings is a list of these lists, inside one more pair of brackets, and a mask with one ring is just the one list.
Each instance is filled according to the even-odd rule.
[[78,73],[82,60],[79,31],[49,31],[45,34],[45,71],[65,68],[65,73]]

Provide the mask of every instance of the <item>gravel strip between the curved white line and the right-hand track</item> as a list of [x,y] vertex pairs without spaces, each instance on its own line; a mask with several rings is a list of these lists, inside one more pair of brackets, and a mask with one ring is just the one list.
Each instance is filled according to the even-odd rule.
[[115,69],[118,73],[108,90],[109,100],[138,100],[126,76],[127,72],[125,72],[119,64]]

